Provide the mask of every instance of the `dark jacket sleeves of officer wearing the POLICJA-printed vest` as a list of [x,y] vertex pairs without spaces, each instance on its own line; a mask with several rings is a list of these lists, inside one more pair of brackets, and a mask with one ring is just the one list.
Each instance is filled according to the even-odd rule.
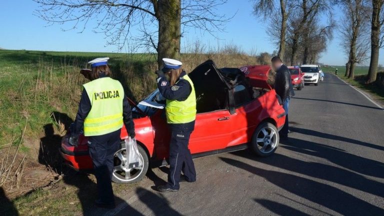
[[[102,78],[102,77],[100,77]],[[78,111],[76,115],[76,120],[73,125],[74,134],[79,134],[84,127],[84,120],[88,115],[91,108],[91,103],[88,97],[88,94],[85,91],[85,88],[82,90],[80,103],[78,104]],[[134,137],[136,134],[134,133],[134,123],[132,119],[132,111],[129,106],[128,98],[124,95],[122,99],[122,117],[124,121],[125,128],[130,135],[130,137]]]

